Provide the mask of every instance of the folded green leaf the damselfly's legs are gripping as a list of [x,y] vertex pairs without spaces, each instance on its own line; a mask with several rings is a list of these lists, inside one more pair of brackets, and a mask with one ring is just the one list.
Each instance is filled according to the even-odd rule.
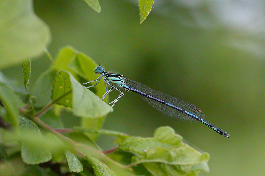
[[[71,91],[72,93],[69,93]],[[64,106],[70,106],[73,114],[84,118],[97,118],[107,115],[112,108],[82,86],[73,75],[64,70],[54,78],[52,99]]]

